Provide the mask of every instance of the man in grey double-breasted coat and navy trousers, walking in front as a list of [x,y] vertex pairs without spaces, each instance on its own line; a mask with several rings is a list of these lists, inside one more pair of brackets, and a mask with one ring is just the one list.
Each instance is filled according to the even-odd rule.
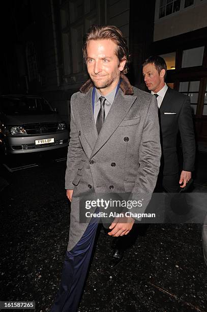
[[66,170],[70,233],[52,312],[74,312],[81,298],[99,222],[93,216],[99,212],[95,205],[87,223],[81,223],[82,201],[97,201],[100,194],[110,198],[128,193],[130,200],[138,202],[141,196],[141,210],[134,206],[130,216],[123,213],[109,226],[109,236],[127,235],[151,198],[160,166],[156,97],[132,87],[124,75],[129,57],[121,31],[93,25],[85,36],[83,56],[90,80],[71,98]]

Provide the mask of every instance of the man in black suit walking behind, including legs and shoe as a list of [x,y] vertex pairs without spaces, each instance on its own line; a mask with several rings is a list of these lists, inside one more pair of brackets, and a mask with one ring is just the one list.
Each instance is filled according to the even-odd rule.
[[[149,91],[157,97],[162,147],[161,166],[155,192],[159,193],[164,189],[167,193],[170,193],[166,197],[166,205],[170,206],[172,210],[166,209],[164,215],[162,216],[161,213],[160,217],[163,217],[165,222],[173,222],[173,218],[176,217],[176,213],[174,215],[174,212],[186,211],[187,202],[185,198],[175,196],[172,193],[178,193],[181,188],[186,186],[191,178],[191,172],[194,170],[195,162],[195,138],[190,98],[178,91],[172,90],[165,84],[166,73],[167,66],[163,58],[154,56],[145,60],[143,64],[144,82]],[[181,174],[179,174],[177,155],[179,132],[182,140],[184,159]],[[151,207],[149,208],[151,212],[154,212],[156,204],[157,201],[151,202]],[[145,225],[139,224],[136,226],[135,224],[128,236],[116,238],[113,242],[114,252],[109,262],[110,267],[119,264],[124,251],[135,242],[140,227],[143,231]]]

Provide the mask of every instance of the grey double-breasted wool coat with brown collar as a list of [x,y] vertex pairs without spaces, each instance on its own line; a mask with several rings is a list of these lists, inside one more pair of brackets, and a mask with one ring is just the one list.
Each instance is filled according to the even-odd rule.
[[[122,82],[98,135],[89,80],[71,98],[71,132],[66,189],[73,190],[68,251],[82,237],[87,223],[79,223],[80,198],[99,193],[148,193],[156,185],[161,147],[155,96]],[[148,199],[145,200],[147,205]],[[94,212],[96,207],[91,212]],[[134,209],[135,211],[135,209]]]

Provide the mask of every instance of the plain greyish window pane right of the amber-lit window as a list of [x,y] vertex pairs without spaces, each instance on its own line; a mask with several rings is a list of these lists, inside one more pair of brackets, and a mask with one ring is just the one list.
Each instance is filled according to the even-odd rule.
[[182,68],[201,66],[203,61],[204,46],[183,50]]

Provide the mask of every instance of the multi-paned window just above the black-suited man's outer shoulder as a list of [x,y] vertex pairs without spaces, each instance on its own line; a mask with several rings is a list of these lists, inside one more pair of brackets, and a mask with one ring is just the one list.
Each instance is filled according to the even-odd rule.
[[199,81],[185,81],[180,83],[179,88],[179,92],[190,97],[191,107],[194,115],[196,114],[197,109],[199,86]]

